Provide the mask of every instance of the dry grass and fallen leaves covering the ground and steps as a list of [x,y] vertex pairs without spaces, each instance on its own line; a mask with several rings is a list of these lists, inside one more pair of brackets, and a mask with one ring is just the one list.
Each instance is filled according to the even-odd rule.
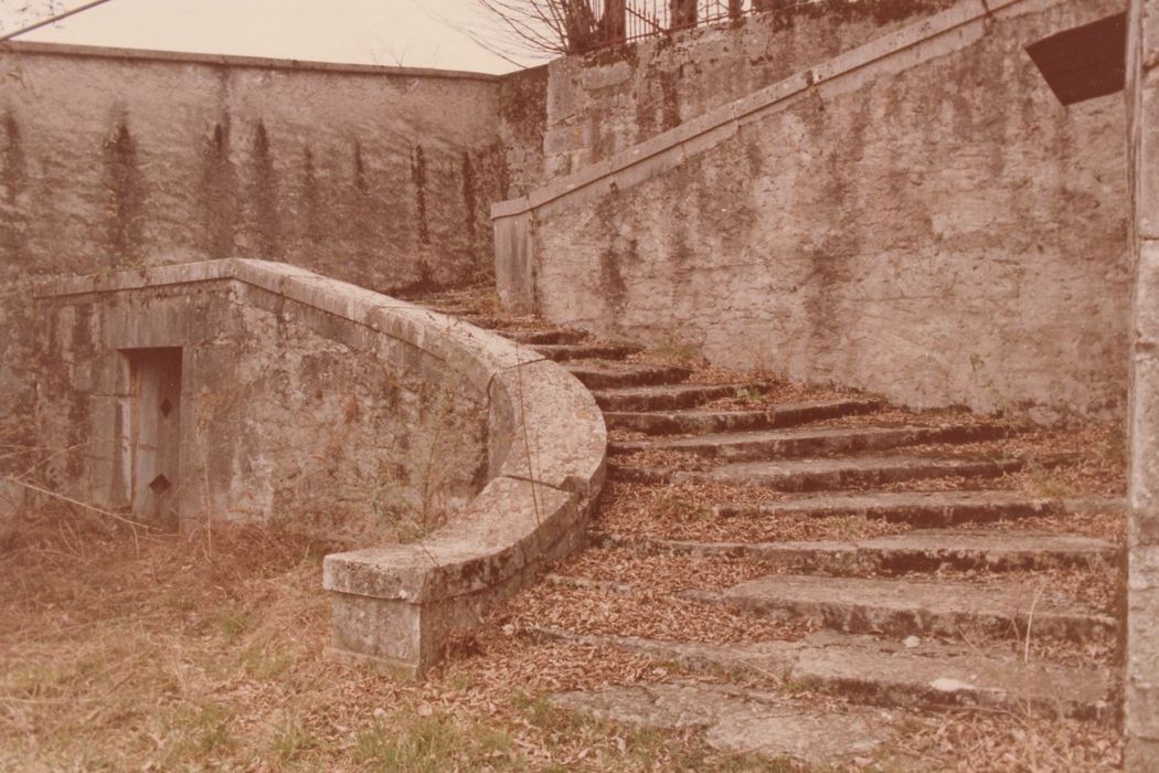
[[[489,286],[449,293],[479,314],[498,309]],[[511,329],[547,329],[534,318]],[[672,345],[639,356],[694,369],[700,382],[763,382],[712,408],[764,409],[778,402],[863,396],[778,382],[767,373],[705,366]],[[904,411],[903,411],[904,414]],[[961,421],[954,414],[954,421]],[[876,417],[943,421],[941,415]],[[850,425],[869,418],[841,420]],[[1032,467],[1007,488],[1036,496],[1118,493],[1114,430],[1035,433],[984,453],[1073,450],[1065,468]],[[975,451],[978,451],[975,449]],[[672,464],[680,454],[663,459]],[[657,460],[661,461],[661,460]],[[977,486],[960,482],[958,486]],[[921,488],[955,487],[953,480]],[[653,538],[772,541],[859,538],[905,531],[865,518],[716,519],[716,503],[783,495],[715,484],[610,486],[600,515],[608,531]],[[1037,519],[1027,525],[1121,537],[1121,517]],[[993,528],[994,525],[987,525]],[[540,584],[496,610],[476,635],[454,643],[447,664],[423,684],[323,657],[329,608],[320,560],[331,546],[254,528],[188,537],[140,534],[67,511],[21,525],[0,553],[0,770],[246,771],[749,771],[804,770],[780,760],[722,754],[700,734],[596,721],[553,708],[554,692],[679,678],[679,666],[615,649],[540,643],[533,627],[729,643],[795,640],[807,627],[678,598],[768,573],[755,561],[673,559],[592,550],[561,567],[608,585]],[[1016,577],[1052,583],[1096,606],[1108,585],[1081,573]],[[983,582],[983,581],[979,581]],[[629,586],[621,590],[620,586]],[[1089,663],[1105,651],[1042,649],[1035,657]],[[839,698],[789,691],[789,700],[841,710]],[[927,715],[895,710],[883,770],[1098,771],[1121,765],[1115,732],[1016,715]]]

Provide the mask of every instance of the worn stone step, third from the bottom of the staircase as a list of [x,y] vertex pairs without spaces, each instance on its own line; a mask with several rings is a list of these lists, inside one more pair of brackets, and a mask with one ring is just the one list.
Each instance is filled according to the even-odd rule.
[[853,634],[1113,641],[1114,618],[1054,598],[1030,582],[967,583],[770,575],[688,598]]

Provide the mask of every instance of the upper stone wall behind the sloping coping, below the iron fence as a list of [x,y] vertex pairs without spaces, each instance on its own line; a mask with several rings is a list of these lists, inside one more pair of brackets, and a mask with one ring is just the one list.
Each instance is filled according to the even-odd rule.
[[781,2],[734,23],[556,59],[548,66],[547,177],[603,161],[954,1]]

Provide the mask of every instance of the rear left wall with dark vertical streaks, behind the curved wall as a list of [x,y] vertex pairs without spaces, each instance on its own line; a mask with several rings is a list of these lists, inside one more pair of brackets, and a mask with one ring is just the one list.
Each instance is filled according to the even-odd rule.
[[381,290],[488,272],[497,107],[488,75],[0,49],[0,423],[31,410],[37,276],[228,255]]

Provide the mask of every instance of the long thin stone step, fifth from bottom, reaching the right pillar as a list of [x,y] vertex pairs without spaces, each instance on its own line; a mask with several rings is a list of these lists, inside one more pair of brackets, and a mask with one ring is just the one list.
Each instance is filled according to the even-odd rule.
[[834,516],[877,518],[919,527],[947,527],[1019,518],[1071,513],[1125,512],[1122,498],[1041,498],[1012,491],[877,491],[794,497],[764,504],[722,504],[717,518],[775,518],[778,516]]

